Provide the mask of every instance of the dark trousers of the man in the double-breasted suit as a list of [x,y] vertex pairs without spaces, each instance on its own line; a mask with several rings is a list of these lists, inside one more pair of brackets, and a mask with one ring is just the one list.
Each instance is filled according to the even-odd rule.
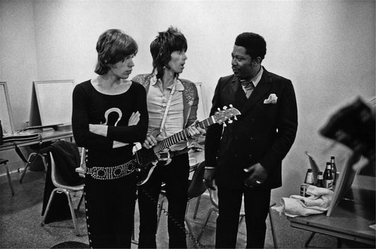
[[238,222],[244,193],[247,248],[264,248],[269,212],[270,189],[218,188],[219,216],[215,238],[216,248],[236,248]]

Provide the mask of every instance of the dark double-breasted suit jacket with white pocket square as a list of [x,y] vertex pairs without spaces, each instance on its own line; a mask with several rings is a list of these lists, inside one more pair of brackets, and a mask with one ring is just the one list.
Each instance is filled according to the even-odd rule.
[[[276,103],[265,103],[270,94]],[[268,177],[263,188],[281,186],[281,161],[296,137],[298,115],[296,96],[289,79],[267,72],[249,98],[235,75],[219,79],[212,99],[213,115],[217,108],[234,106],[240,110],[238,120],[224,127],[212,125],[205,139],[206,166],[216,167],[216,184],[230,189],[244,188],[244,168],[257,162]]]

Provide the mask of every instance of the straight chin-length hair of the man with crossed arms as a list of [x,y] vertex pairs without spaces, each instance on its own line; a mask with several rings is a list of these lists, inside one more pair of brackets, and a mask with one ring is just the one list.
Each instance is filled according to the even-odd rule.
[[137,53],[135,40],[122,30],[106,30],[97,41],[98,61],[95,72],[104,75],[109,72],[108,64],[115,64],[127,56]]

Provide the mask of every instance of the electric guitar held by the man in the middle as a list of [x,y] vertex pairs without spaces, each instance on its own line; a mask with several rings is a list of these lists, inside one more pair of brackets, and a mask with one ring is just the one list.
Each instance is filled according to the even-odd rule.
[[[224,110],[219,110],[214,115],[208,117],[206,120],[199,122],[195,127],[200,127],[205,129],[210,127],[210,125],[219,124],[229,121],[232,122],[231,118],[234,117],[236,120],[236,115],[241,115],[240,111],[230,105],[230,108],[224,107]],[[226,124],[225,124],[226,125]],[[169,158],[164,157],[164,149],[169,148],[169,146],[178,143],[179,141],[185,140],[188,138],[189,132],[188,128],[183,129],[181,132],[178,132],[174,135],[159,141],[156,146],[152,148],[135,148],[133,147],[133,152],[135,153],[135,158],[137,160],[136,172],[138,172],[138,186],[145,184],[145,182],[150,178],[154,168],[157,166],[158,161],[166,161]],[[162,156],[161,156],[162,155]]]

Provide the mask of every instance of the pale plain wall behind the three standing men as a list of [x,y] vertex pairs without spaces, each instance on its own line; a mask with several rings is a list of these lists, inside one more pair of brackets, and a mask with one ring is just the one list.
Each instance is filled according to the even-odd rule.
[[263,65],[292,80],[298,101],[298,135],[274,198],[298,193],[308,167],[304,151],[322,168],[336,155],[341,170],[348,151],[329,148],[318,130],[356,96],[375,96],[375,1],[1,1],[0,7],[0,78],[10,84],[17,127],[28,119],[32,80],[95,76],[95,44],[109,28],[138,41],[133,77],[150,72],[157,32],[178,27],[188,39],[181,77],[203,82],[207,108],[219,77],[231,74],[236,35],[261,34]]

